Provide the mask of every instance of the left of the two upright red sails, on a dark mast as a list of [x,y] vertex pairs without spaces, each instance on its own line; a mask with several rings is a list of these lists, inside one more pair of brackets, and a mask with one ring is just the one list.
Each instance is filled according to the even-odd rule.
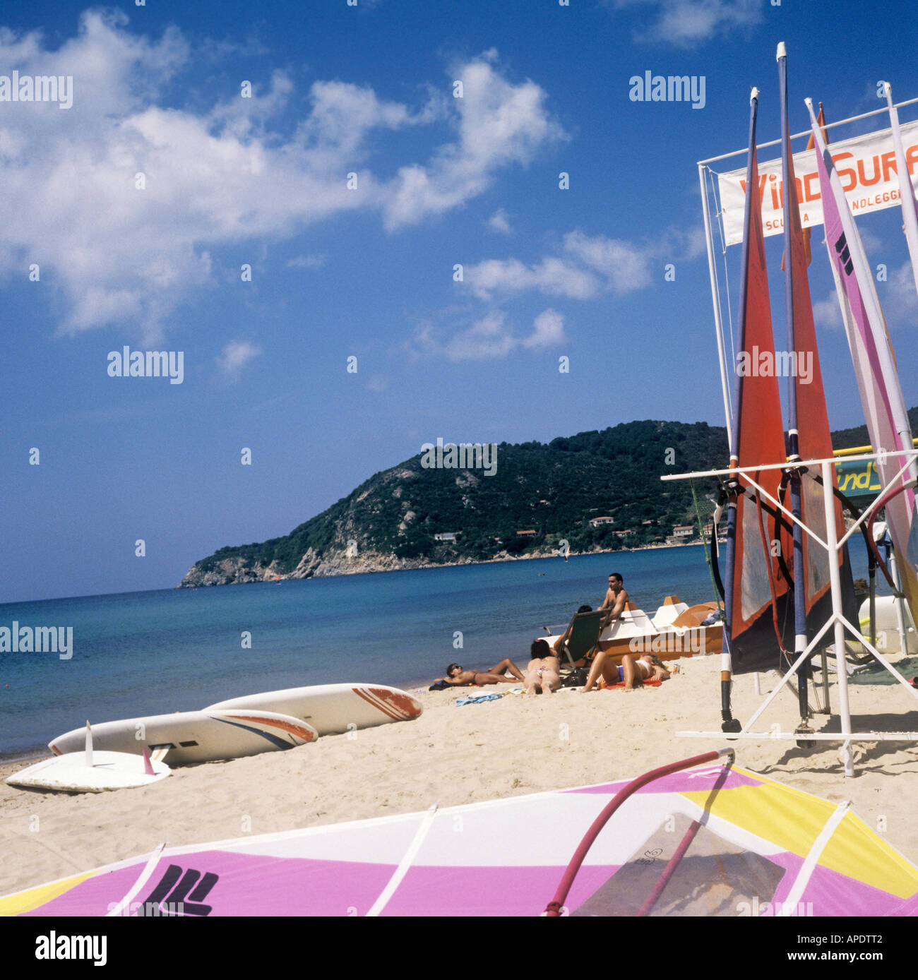
[[[761,183],[755,151],[758,90],[749,99],[749,163],[746,178],[746,215],[741,260],[740,311],[737,338],[737,370],[734,395],[733,452],[731,468],[767,466],[785,462],[781,395],[774,369],[774,340],[765,241],[761,220]],[[757,473],[759,483],[777,496],[781,471]],[[722,685],[731,673],[777,666],[778,642],[774,633],[773,594],[787,603],[788,584],[781,576],[766,529],[767,512],[739,473],[729,486],[727,512],[727,562],[724,580],[724,629]],[[782,617],[784,611],[781,612]],[[721,688],[724,721],[730,720],[729,687]]]

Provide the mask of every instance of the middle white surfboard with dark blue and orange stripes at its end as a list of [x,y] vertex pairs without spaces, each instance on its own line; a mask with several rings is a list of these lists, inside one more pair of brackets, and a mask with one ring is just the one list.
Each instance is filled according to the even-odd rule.
[[[84,730],[74,728],[49,742],[48,748],[58,756],[78,752],[84,738]],[[151,753],[167,749],[169,765],[257,756],[293,749],[316,738],[312,725],[276,711],[176,711],[92,726],[97,749],[131,754],[139,753],[144,745]]]

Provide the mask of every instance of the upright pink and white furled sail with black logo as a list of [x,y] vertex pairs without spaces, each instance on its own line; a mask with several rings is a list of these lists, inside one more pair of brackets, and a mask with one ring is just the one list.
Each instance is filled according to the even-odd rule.
[[[882,454],[884,449],[890,452],[911,449],[911,429],[895,368],[893,346],[864,246],[851,217],[841,178],[819,126],[813,119],[809,100],[807,107],[818,151],[826,248],[845,320],[867,431],[875,452]],[[905,463],[902,457],[881,455],[876,466],[882,485],[889,484]],[[896,487],[900,488],[916,477],[918,467],[911,463],[899,476]],[[918,613],[918,576],[915,573],[918,564],[918,519],[915,503],[912,489],[903,490],[886,503],[887,524],[893,539],[902,588],[913,617]]]

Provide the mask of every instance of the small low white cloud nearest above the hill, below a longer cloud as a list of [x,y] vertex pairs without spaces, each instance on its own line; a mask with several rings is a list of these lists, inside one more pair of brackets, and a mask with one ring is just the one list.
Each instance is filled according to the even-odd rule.
[[506,358],[520,347],[545,350],[568,342],[564,334],[564,318],[551,309],[536,317],[532,332],[525,337],[514,335],[507,324],[507,314],[500,310],[491,311],[448,340],[441,340],[439,332],[429,323],[420,324],[408,345],[411,355],[447,358],[457,362],[488,361]]

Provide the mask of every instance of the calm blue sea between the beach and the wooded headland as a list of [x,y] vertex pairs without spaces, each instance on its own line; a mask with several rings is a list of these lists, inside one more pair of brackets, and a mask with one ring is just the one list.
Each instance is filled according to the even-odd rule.
[[0,654],[0,759],[87,719],[309,684],[429,684],[453,661],[525,662],[541,626],[602,603],[610,571],[650,614],[670,594],[713,599],[698,546],[0,605],[0,626],[73,629],[69,661]]

